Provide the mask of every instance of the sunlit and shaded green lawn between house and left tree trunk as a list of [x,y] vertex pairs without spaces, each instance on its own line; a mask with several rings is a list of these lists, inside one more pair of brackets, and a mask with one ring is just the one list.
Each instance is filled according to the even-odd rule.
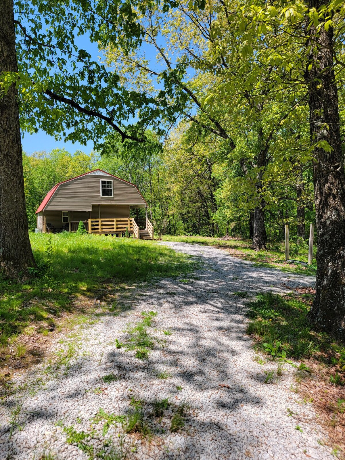
[[49,336],[63,318],[95,311],[93,299],[100,292],[186,275],[194,267],[189,256],[151,241],[69,233],[31,234],[30,239],[39,266],[32,270],[32,279],[19,283],[0,278],[3,364],[27,354],[18,341],[21,334]]

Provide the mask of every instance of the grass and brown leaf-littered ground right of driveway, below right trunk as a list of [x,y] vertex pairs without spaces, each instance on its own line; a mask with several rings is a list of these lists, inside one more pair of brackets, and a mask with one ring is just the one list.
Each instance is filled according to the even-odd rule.
[[[277,363],[270,383],[279,380],[284,367],[295,367],[291,391],[303,397],[301,403],[313,403],[328,429],[334,455],[345,458],[345,346],[311,327],[306,316],[313,294],[306,288],[297,291],[285,296],[259,294],[249,302],[247,333],[256,351]],[[256,360],[265,363],[259,355]]]

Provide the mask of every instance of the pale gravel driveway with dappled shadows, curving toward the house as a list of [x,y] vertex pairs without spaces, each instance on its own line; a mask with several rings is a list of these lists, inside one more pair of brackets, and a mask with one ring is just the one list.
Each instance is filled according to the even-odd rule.
[[[159,244],[198,257],[200,269],[188,280],[162,279],[121,291],[118,305],[124,310],[132,305],[132,310],[99,316],[67,334],[52,351],[61,357],[71,350],[72,357],[62,360],[60,368],[42,363],[17,374],[13,394],[2,402],[0,459],[88,459],[91,451],[85,446],[93,446],[99,455],[94,458],[108,453],[107,460],[125,454],[127,459],[157,460],[333,459],[322,445],[327,435],[311,404],[290,390],[294,369],[286,365],[281,377],[264,384],[265,371],[276,370],[277,364],[254,361],[245,334],[245,299],[232,294],[284,293],[287,286],[312,286],[314,278],[255,267],[213,247]],[[115,346],[115,339],[126,339],[128,323],[140,321],[141,311],[158,313],[149,328],[156,346],[146,361]],[[116,380],[102,380],[111,374]],[[170,405],[156,416],[155,400],[166,398]],[[119,423],[106,425],[105,418],[92,421],[99,408],[128,414],[138,400],[154,433],[151,442],[136,433],[123,435]],[[171,432],[171,419],[182,403],[184,427]],[[66,442],[71,426],[87,435],[79,448]]]

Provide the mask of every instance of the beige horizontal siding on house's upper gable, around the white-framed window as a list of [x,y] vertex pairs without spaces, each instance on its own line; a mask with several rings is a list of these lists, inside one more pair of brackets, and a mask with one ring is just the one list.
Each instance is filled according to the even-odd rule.
[[[101,196],[100,180],[112,180],[114,196]],[[134,185],[106,175],[87,175],[60,184],[46,205],[46,211],[92,211],[92,205],[146,206]],[[91,217],[94,217],[93,215]],[[95,216],[96,217],[96,216]],[[98,215],[97,215],[98,217]]]

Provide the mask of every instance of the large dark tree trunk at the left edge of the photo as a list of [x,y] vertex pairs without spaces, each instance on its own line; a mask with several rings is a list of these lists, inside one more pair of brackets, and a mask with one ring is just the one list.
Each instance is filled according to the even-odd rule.
[[[0,72],[17,72],[13,0],[2,2]],[[0,99],[0,269],[6,276],[26,275],[35,266],[25,211],[22,143],[17,90]]]

